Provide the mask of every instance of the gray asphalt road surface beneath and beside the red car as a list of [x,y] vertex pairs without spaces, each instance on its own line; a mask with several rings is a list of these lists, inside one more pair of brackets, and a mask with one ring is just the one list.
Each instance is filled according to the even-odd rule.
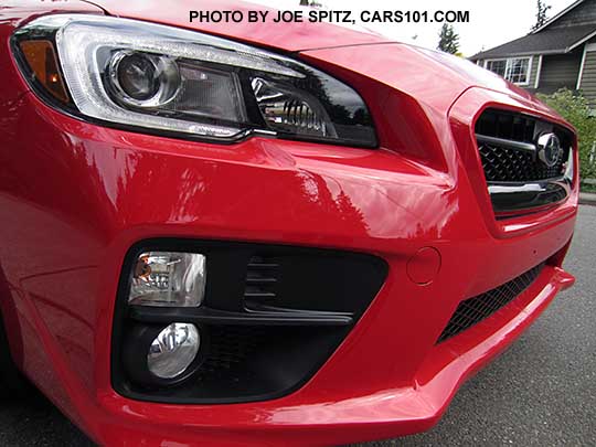
[[[596,445],[596,207],[565,267],[576,286],[459,391],[430,432],[358,447]],[[0,403],[1,446],[91,446],[44,397]]]

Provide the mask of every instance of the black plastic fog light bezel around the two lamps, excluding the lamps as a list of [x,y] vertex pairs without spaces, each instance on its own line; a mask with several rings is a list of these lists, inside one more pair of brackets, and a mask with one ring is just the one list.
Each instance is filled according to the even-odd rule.
[[[201,307],[157,308],[128,304],[131,266],[139,254],[158,251],[205,255],[209,280]],[[247,265],[255,255],[273,256],[272,262],[283,263],[278,276],[279,284],[286,285],[280,291],[285,299],[281,306],[292,301],[297,306],[273,310],[246,306],[246,299],[252,299],[243,298]],[[370,306],[387,273],[389,265],[383,258],[349,251],[219,240],[141,240],[127,251],[120,268],[111,328],[111,386],[126,398],[189,405],[262,402],[290,394],[304,386],[330,358]],[[347,288],[341,286],[342,281],[329,280],[329,277],[345,276],[351,278]],[[311,281],[304,281],[304,277]],[[304,297],[311,297],[312,289],[319,290],[318,298],[305,302]],[[177,381],[151,377],[149,383],[142,376],[131,376],[127,371],[130,366],[125,368],[124,344],[129,336],[138,333],[135,328],[158,326],[161,330],[171,322],[189,322],[200,328],[203,344],[198,363]],[[242,369],[224,374],[223,379],[212,377],[220,377],[220,359],[227,362],[227,331],[240,331],[244,337],[255,327],[263,343],[247,351]],[[157,333],[158,330],[151,336]],[[240,343],[245,340],[259,343],[258,333],[249,337]],[[152,338],[146,341],[146,349],[151,342]],[[146,349],[139,350],[143,365]],[[132,356],[137,358],[136,353]]]

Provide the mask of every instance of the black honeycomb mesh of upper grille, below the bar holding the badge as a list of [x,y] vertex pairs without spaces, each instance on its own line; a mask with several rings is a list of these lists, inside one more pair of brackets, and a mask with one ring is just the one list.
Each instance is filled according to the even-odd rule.
[[485,177],[489,182],[532,182],[563,175],[564,157],[552,168],[521,150],[479,143]]

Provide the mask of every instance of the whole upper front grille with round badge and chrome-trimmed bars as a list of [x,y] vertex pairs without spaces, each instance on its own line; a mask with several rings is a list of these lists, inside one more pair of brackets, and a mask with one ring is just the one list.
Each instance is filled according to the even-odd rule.
[[487,189],[497,220],[563,202],[573,185],[573,134],[544,119],[488,109],[475,127]]

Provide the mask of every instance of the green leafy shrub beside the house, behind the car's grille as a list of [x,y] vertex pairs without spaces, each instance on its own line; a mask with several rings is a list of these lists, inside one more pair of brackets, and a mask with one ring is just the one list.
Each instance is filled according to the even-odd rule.
[[579,174],[585,179],[596,179],[594,156],[590,160],[596,142],[596,118],[590,116],[586,98],[568,88],[562,88],[552,95],[539,94],[538,97],[575,126],[579,145]]

